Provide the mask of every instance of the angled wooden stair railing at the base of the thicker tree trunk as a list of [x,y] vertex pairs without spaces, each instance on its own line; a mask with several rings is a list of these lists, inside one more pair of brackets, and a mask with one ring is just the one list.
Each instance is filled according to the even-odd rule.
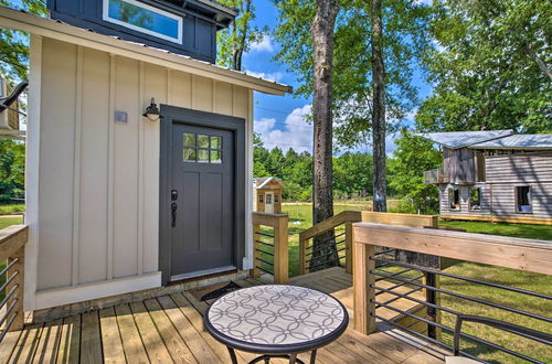
[[[344,266],[349,274],[352,274],[352,224],[358,222],[402,225],[413,227],[437,227],[438,217],[433,215],[394,214],[370,211],[343,211],[299,234],[299,274],[305,275],[310,271],[309,249],[312,248],[310,239],[333,231],[340,225],[344,225]],[[338,242],[339,243],[339,242]]]

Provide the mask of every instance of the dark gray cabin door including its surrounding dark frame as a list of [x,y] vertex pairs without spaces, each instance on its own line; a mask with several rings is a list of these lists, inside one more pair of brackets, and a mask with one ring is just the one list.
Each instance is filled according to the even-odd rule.
[[245,120],[161,105],[162,281],[241,269]]

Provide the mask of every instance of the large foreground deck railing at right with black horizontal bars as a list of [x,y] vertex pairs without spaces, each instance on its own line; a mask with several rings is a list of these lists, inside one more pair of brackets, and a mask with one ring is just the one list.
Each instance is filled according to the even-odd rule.
[[[444,289],[443,287],[432,287],[427,282],[413,282],[408,280],[407,277],[401,277],[400,274],[389,274],[389,269],[391,268],[386,268],[388,272],[382,272],[381,269],[376,268],[376,263],[386,264],[389,265],[388,267],[392,267],[393,265],[395,265],[401,269],[415,269],[424,274],[437,275],[439,277],[443,276],[454,281],[458,280],[459,282],[464,282],[465,285],[479,285],[478,287],[497,289],[501,290],[502,292],[510,291],[516,292],[516,295],[526,295],[521,296],[521,299],[531,297],[531,299],[533,300],[543,300],[543,304],[548,304],[546,302],[550,302],[550,300],[552,300],[552,297],[546,296],[543,292],[533,292],[521,288],[499,285],[497,282],[489,282],[485,281],[484,278],[480,277],[464,277],[447,272],[446,270],[439,271],[432,268],[424,268],[412,264],[405,264],[402,261],[393,261],[393,259],[379,257],[376,247],[384,247],[388,249],[403,249],[414,253],[492,265],[505,268],[513,268],[518,270],[550,276],[552,275],[552,242],[367,223],[354,224],[353,235],[353,317],[354,329],[357,331],[360,331],[364,334],[370,334],[376,331],[376,319],[384,321],[385,323],[389,323],[391,325],[397,326],[393,322],[386,322],[383,318],[380,318],[375,313],[375,309],[378,307],[390,308],[389,306],[378,300],[378,295],[380,295],[381,291],[402,297],[401,295],[385,290],[379,286],[378,280],[388,279],[391,276],[391,278],[397,280],[399,282],[414,285],[414,287],[418,289],[428,290],[440,296],[447,295],[449,297],[453,297],[455,300],[466,301],[466,304],[468,304],[468,307],[480,304],[484,307],[484,309],[481,310],[481,313],[484,315],[488,315],[488,310],[490,307],[492,310],[503,310],[508,313],[516,313],[516,315],[522,315],[530,318],[531,320],[538,320],[539,322],[546,322],[548,324],[552,323],[552,318],[535,313],[531,310],[528,311],[526,306],[523,304],[524,301],[520,301],[518,307],[516,307],[511,306],[512,302],[505,303],[497,302],[495,299],[489,299],[490,296],[487,296],[487,298],[471,297],[461,292],[454,291],[454,286],[453,289]],[[453,317],[456,317],[457,324],[464,318],[469,318],[468,314],[460,312],[461,309],[458,310],[458,308],[452,309],[450,307],[444,307],[442,306],[440,301],[421,301],[412,297],[406,297],[406,299],[420,304],[424,304],[428,310],[437,310],[439,312],[443,311],[447,314],[452,314]],[[400,311],[396,308],[390,309]],[[410,317],[412,320],[418,320],[420,322],[434,326],[439,331],[455,333],[455,330],[453,328],[444,325],[439,320],[432,320],[428,319],[428,317],[418,317],[408,312],[404,312],[404,314]],[[478,317],[477,320],[481,320],[481,322],[489,321],[490,324],[495,325],[498,329],[500,329],[501,325],[507,328],[508,325],[511,325],[511,323],[498,322],[485,317]],[[399,329],[407,331],[408,333],[414,335],[422,335],[412,330],[407,330],[407,328]],[[526,333],[530,333],[529,335],[526,335],[526,338],[537,340],[538,342],[544,344],[552,344],[552,335],[550,335],[550,333],[546,334],[542,332],[535,332],[530,328],[521,328],[521,330],[524,330]],[[481,340],[480,338],[477,338],[477,335],[475,336],[458,332],[456,333],[456,335],[460,335],[463,340],[467,340],[470,343],[475,342],[477,345],[487,345],[493,351],[505,352],[518,358],[532,361],[527,354],[503,347],[499,344],[489,342],[488,340]],[[432,343],[438,344],[449,351],[453,351],[452,345],[443,343],[440,336],[424,336],[423,339],[426,339]],[[455,352],[457,352],[458,350],[456,343],[458,340],[459,339],[455,336]],[[466,352],[461,353],[461,355],[471,356],[475,358],[474,355]]]

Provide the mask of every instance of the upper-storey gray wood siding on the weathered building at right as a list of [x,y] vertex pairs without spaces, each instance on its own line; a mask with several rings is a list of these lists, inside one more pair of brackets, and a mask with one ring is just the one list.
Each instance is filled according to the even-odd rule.
[[552,182],[552,151],[491,156],[486,158],[486,164],[487,183]]

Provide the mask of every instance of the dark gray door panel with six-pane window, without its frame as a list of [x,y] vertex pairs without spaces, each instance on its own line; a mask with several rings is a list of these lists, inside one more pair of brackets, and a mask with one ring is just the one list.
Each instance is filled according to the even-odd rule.
[[234,266],[234,131],[172,124],[171,279]]

